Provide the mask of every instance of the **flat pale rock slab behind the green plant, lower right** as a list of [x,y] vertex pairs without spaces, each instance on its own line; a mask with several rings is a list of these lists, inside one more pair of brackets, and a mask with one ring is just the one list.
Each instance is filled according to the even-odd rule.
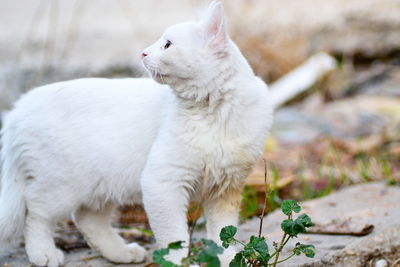
[[[321,199],[301,204],[302,212],[307,213],[315,223],[327,223],[337,219],[349,219],[354,223],[374,225],[369,235],[358,237],[350,235],[302,234],[288,243],[285,254],[296,242],[314,244],[317,253],[314,259],[304,256],[289,260],[285,267],[370,266],[381,259],[400,257],[400,188],[388,187],[383,183],[361,184],[345,188]],[[264,219],[263,233],[268,242],[281,238],[280,211],[275,211]],[[253,219],[243,224],[239,230],[240,238],[248,239],[258,231],[259,220]],[[284,257],[284,255],[282,256]]]

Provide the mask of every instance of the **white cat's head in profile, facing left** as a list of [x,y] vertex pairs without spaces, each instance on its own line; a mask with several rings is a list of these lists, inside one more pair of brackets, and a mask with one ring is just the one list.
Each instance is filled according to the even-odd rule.
[[223,5],[214,1],[202,20],[169,27],[158,41],[143,50],[142,60],[159,83],[172,87],[196,84],[212,79],[230,45]]

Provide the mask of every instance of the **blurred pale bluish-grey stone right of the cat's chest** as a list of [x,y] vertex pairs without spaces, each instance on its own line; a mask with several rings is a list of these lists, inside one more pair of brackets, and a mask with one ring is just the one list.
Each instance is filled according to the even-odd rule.
[[[305,143],[322,135],[355,138],[379,134],[400,122],[398,98],[360,95],[326,104],[309,103],[313,106],[277,110],[272,134],[285,142]],[[400,134],[397,128],[394,131],[394,135]]]

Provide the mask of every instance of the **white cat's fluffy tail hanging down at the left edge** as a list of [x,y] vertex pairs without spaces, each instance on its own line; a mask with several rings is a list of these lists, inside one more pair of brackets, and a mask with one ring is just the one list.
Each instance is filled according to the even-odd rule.
[[0,252],[19,239],[25,224],[25,182],[16,139],[7,132],[1,136]]

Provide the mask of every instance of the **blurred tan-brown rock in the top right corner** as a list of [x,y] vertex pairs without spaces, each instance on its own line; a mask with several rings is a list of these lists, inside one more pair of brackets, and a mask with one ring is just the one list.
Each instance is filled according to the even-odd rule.
[[311,48],[359,61],[389,57],[400,43],[400,19],[394,16],[399,10],[396,1],[370,1],[358,10],[344,12],[340,23],[311,33]]

